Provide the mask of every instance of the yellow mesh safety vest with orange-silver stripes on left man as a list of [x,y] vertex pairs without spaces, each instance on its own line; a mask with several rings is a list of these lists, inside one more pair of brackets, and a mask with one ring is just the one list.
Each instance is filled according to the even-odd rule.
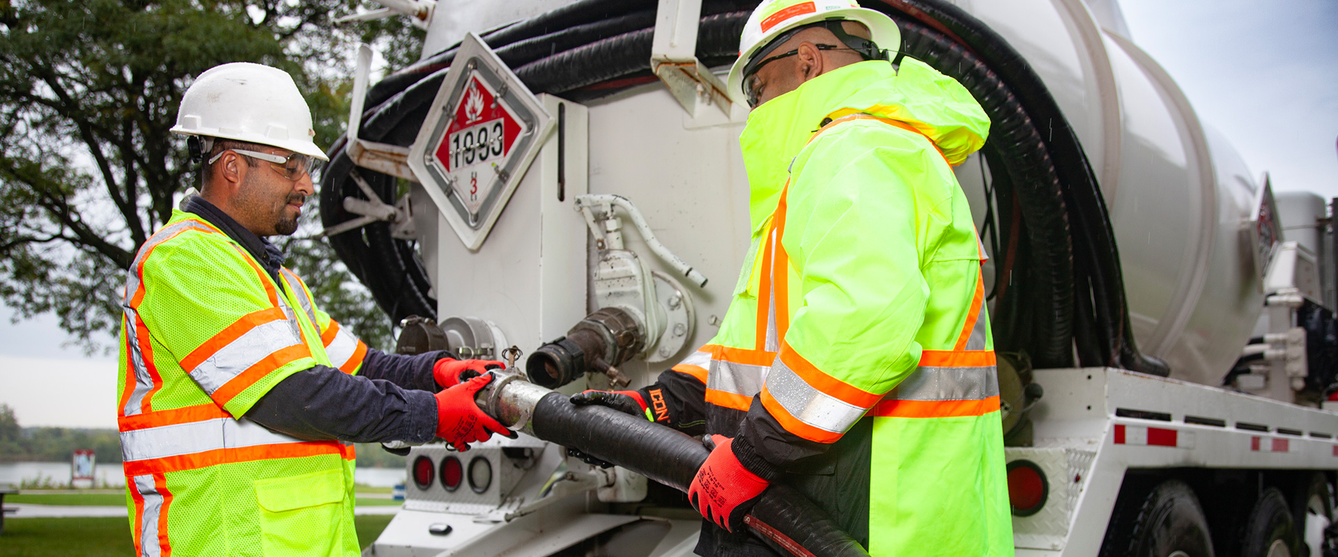
[[356,556],[353,447],[240,419],[276,383],[367,346],[199,216],[140,247],[123,301],[119,427],[138,556]]

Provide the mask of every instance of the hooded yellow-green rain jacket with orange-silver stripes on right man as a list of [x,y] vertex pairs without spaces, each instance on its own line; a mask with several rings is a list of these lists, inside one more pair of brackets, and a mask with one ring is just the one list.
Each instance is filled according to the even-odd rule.
[[708,403],[757,397],[812,442],[872,417],[874,556],[1013,554],[985,254],[950,166],[987,130],[961,84],[909,57],[756,108],[749,252],[720,331],[674,366]]

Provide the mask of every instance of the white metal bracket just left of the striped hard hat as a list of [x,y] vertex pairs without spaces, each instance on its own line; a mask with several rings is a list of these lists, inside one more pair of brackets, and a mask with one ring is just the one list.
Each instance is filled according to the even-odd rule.
[[733,102],[725,84],[697,60],[700,19],[701,0],[660,0],[650,69],[689,115],[697,116],[702,104],[714,104],[728,116]]

